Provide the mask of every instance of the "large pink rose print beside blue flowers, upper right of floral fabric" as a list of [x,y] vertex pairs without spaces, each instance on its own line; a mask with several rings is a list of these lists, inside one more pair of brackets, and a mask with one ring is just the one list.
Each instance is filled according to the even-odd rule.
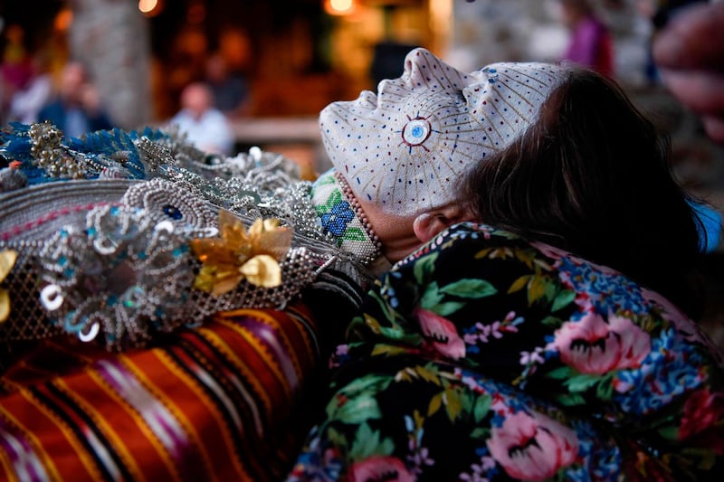
[[604,374],[634,368],[651,352],[651,337],[625,317],[588,313],[556,330],[554,347],[563,363],[580,373]]

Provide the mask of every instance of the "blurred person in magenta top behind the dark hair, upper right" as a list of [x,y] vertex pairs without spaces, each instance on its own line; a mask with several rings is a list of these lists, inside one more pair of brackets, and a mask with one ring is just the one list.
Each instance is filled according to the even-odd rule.
[[560,0],[563,23],[570,39],[562,59],[575,61],[605,75],[614,76],[614,41],[608,26],[589,0]]

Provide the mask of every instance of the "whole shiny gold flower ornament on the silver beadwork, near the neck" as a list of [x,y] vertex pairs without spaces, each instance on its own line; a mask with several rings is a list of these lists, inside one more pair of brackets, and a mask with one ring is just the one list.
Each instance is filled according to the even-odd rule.
[[247,230],[233,213],[219,213],[219,237],[191,241],[196,257],[203,263],[194,288],[220,296],[246,279],[263,288],[281,285],[281,267],[291,246],[291,229],[279,220],[257,219]]

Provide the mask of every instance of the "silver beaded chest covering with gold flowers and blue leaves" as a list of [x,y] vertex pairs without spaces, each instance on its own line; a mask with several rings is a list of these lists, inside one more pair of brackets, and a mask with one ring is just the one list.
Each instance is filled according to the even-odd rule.
[[65,138],[48,123],[0,131],[0,156],[0,343],[142,346],[217,311],[283,307],[331,265],[365,276],[283,156],[208,156],[152,129]]

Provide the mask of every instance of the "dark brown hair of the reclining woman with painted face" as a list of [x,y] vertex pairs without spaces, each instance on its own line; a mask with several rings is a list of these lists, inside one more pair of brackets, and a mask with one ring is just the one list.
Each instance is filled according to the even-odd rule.
[[481,222],[618,269],[699,317],[699,219],[669,137],[613,80],[568,75],[524,136],[462,178],[462,199]]

